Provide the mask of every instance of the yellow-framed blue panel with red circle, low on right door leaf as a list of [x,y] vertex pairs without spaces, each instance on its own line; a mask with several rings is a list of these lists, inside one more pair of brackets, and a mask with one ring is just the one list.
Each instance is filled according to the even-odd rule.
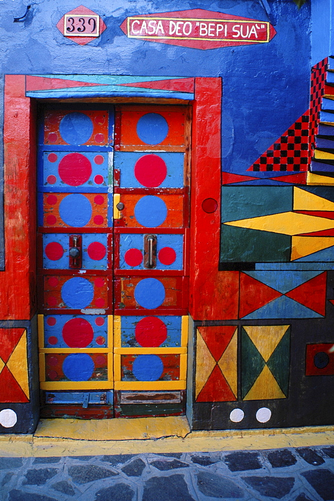
[[120,317],[121,347],[178,348],[181,346],[181,317]]

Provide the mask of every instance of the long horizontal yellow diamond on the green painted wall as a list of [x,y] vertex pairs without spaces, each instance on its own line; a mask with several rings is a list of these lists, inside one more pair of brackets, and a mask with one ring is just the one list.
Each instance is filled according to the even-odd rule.
[[[312,210],[316,209],[313,208]],[[311,231],[334,228],[333,219],[309,216],[308,214],[299,214],[297,212],[281,212],[268,216],[229,221],[224,224],[241,228],[258,229],[259,231],[282,233],[285,235],[297,235],[299,233],[310,233]]]

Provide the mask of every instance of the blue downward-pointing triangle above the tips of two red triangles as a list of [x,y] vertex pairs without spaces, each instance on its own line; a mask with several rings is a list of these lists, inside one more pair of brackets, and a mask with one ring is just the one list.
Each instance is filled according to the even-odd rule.
[[255,272],[245,272],[247,275],[252,277],[259,282],[263,282],[263,284],[275,289],[275,291],[280,292],[281,294],[286,294],[292,289],[295,289],[299,285],[307,282],[307,280],[316,277],[320,272],[318,271],[255,271]]

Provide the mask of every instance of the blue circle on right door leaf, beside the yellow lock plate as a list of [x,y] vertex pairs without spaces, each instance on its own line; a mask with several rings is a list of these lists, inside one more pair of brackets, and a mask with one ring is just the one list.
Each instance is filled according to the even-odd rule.
[[167,216],[167,207],[164,201],[155,195],[146,195],[139,198],[134,207],[134,216],[139,224],[146,228],[160,226]]

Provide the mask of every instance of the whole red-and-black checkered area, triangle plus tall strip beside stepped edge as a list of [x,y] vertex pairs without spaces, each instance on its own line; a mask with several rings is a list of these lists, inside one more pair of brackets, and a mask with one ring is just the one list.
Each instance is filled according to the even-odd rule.
[[248,171],[307,171],[314,149],[326,64],[327,58],[312,68],[310,108],[255,160]]

